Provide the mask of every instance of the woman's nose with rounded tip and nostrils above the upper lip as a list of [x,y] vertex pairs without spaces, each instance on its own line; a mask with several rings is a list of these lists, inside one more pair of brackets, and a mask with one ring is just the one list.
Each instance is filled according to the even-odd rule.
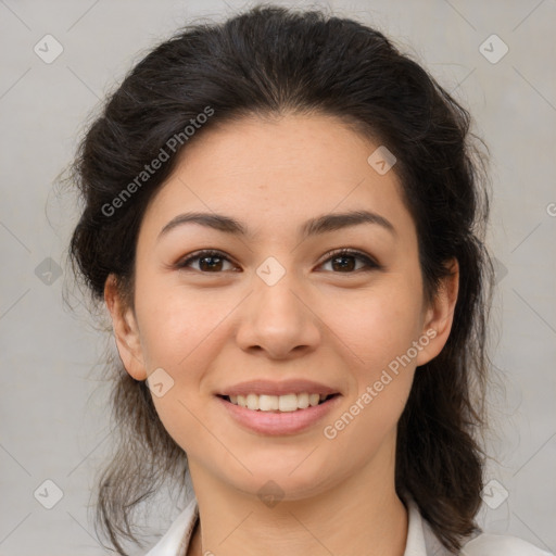
[[273,359],[298,357],[320,342],[323,324],[314,300],[293,273],[269,286],[253,278],[253,292],[241,306],[237,342],[242,350],[265,352]]

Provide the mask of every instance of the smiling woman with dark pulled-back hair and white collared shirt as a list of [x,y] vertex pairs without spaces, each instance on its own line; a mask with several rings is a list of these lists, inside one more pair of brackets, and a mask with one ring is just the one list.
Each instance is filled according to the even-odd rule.
[[491,264],[469,115],[380,33],[256,8],[144,58],[75,163],[76,271],[105,302],[118,554],[543,555],[485,534]]

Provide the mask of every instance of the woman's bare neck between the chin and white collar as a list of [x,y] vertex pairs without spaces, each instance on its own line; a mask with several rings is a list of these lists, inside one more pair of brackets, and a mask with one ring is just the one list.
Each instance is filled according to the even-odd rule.
[[395,493],[393,466],[371,462],[333,488],[275,505],[224,485],[195,462],[190,470],[200,528],[188,556],[404,555],[407,511]]

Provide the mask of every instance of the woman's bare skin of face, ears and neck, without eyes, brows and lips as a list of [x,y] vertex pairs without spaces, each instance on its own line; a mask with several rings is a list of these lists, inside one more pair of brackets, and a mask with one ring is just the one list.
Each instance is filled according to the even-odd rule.
[[[146,380],[162,367],[174,380],[153,401],[188,455],[199,503],[201,527],[188,555],[363,556],[369,546],[374,555],[404,553],[407,511],[394,489],[396,422],[416,367],[447,340],[458,268],[451,262],[451,276],[427,303],[416,228],[397,177],[367,163],[378,146],[326,115],[252,117],[207,129],[188,146],[143,217],[135,311],[113,277],[106,280],[127,371]],[[298,236],[312,217],[363,208],[387,218],[395,233],[363,224]],[[253,237],[186,224],[157,240],[172,218],[189,211],[232,216]],[[348,256],[356,266],[343,269],[342,261],[325,256],[338,248],[361,251],[381,267],[367,269]],[[228,261],[216,270],[206,260],[177,266],[201,249],[222,251]],[[274,286],[256,274],[268,256],[286,270]],[[412,363],[334,439],[325,438],[324,427],[427,330],[435,337]],[[254,378],[300,377],[342,397],[298,434],[245,431],[214,395]],[[257,496],[269,480],[283,492],[274,507]]]

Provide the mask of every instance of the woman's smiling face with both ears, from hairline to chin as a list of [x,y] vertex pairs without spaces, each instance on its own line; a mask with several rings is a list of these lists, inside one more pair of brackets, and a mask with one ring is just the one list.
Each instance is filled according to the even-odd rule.
[[[325,115],[197,139],[144,214],[135,312],[106,282],[127,371],[153,374],[193,483],[256,493],[273,480],[295,500],[391,477],[416,366],[444,345],[457,295],[456,279],[425,302],[395,166],[376,172],[379,143]],[[315,394],[330,397],[292,410]]]

